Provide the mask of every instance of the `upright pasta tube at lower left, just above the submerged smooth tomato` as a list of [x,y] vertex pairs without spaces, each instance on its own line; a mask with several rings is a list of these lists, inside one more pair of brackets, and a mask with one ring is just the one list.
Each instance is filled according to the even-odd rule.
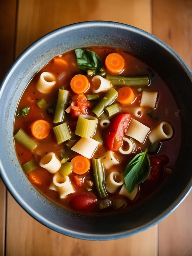
[[56,186],[60,198],[65,198],[67,195],[75,192],[73,186],[71,185],[69,177],[62,176],[60,173],[56,173],[54,175],[53,184]]

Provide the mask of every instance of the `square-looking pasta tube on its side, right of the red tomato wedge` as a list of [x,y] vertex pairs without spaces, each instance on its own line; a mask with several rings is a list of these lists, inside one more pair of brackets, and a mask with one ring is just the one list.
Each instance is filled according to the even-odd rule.
[[149,132],[149,127],[132,118],[125,134],[143,143]]

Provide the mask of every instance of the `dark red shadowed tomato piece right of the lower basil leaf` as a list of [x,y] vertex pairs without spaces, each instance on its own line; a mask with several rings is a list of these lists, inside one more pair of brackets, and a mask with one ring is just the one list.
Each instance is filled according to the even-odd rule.
[[144,181],[147,187],[156,186],[163,177],[162,160],[159,157],[150,157],[151,172],[148,178]]

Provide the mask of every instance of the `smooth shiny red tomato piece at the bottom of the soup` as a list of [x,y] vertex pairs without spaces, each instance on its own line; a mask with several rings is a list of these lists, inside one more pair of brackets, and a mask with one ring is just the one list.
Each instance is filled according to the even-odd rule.
[[90,211],[97,204],[97,197],[89,193],[81,193],[69,200],[69,206],[76,211]]

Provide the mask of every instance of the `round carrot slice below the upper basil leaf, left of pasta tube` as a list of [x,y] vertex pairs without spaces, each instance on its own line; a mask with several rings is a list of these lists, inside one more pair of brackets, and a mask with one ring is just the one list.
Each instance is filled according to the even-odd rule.
[[86,76],[78,74],[71,79],[70,85],[74,93],[80,94],[86,92],[89,88],[89,80]]

